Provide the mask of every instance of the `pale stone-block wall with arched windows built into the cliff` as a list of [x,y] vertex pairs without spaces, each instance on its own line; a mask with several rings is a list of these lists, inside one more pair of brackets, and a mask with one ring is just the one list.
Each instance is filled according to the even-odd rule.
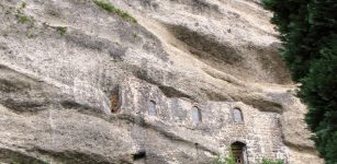
[[[246,145],[246,163],[257,163],[262,159],[288,162],[288,148],[283,144],[280,114],[261,112],[239,102],[196,103],[182,97],[167,97],[156,85],[131,78],[121,85],[121,114],[139,116],[145,125],[165,127],[181,140],[193,142],[202,153],[228,155],[231,144]],[[157,115],[148,113],[148,104],[156,103]],[[202,120],[192,120],[193,107],[201,110]],[[240,109],[243,122],[234,121],[234,109]],[[147,138],[146,134],[143,138]],[[144,142],[139,139],[138,142]],[[154,143],[155,144],[155,143]],[[154,145],[143,143],[145,150]]]

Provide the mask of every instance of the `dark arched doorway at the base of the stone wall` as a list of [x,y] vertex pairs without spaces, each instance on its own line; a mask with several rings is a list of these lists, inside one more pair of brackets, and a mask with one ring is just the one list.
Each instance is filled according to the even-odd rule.
[[235,160],[235,164],[247,164],[247,149],[246,144],[243,142],[234,142],[231,144],[233,157]]

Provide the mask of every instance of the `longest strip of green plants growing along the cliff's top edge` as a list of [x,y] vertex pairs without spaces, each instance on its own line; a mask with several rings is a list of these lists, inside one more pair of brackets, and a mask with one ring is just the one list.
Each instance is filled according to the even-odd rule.
[[93,2],[110,13],[117,14],[124,20],[131,21],[133,23],[137,23],[137,20],[134,19],[131,14],[128,14],[125,11],[122,11],[121,9],[115,8],[113,4],[111,4],[106,0],[93,0]]

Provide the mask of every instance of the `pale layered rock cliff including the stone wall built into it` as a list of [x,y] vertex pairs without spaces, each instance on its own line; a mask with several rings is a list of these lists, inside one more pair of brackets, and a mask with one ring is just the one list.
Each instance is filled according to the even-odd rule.
[[259,1],[110,1],[1,0],[0,162],[323,163]]

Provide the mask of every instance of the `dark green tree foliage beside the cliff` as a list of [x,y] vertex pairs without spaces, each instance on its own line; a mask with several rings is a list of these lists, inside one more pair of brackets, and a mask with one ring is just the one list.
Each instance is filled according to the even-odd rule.
[[305,121],[327,164],[337,163],[337,1],[263,0],[280,32],[283,60],[308,106]]

